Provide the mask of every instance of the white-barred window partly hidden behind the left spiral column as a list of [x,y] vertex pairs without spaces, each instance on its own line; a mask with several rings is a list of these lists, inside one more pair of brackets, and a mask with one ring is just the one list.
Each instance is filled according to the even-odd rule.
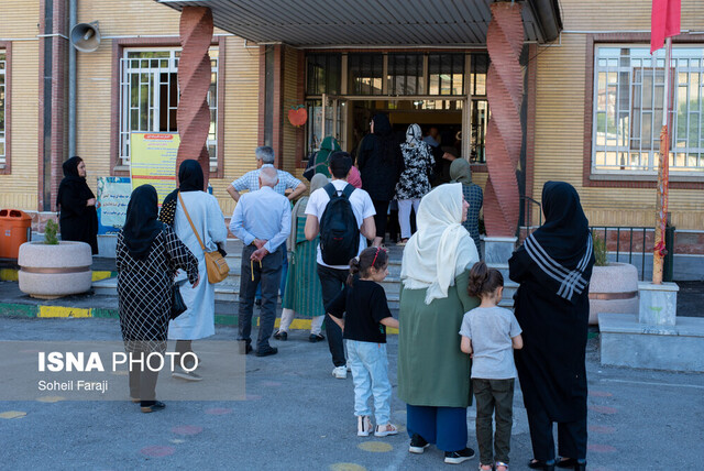
[[[130,163],[130,132],[177,132],[178,50],[125,50],[121,59],[120,164]],[[218,169],[218,50],[210,50],[210,171]]]

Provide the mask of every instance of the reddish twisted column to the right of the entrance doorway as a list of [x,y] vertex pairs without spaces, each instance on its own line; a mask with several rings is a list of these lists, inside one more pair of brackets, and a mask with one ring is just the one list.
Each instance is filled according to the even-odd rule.
[[486,96],[491,118],[486,129],[488,180],[484,193],[484,223],[490,237],[514,237],[520,200],[516,168],[522,130],[520,105],[524,77],[519,63],[524,45],[520,3],[492,3],[486,33],[491,65]]

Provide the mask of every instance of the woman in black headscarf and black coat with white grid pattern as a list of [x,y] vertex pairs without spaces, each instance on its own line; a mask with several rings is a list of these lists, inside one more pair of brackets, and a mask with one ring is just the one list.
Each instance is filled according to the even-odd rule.
[[[198,285],[198,261],[160,222],[156,189],[142,185],[132,191],[124,227],[118,233],[118,304],[124,349],[129,353],[166,351],[166,335],[172,310],[174,272],[186,271],[188,281]],[[136,368],[136,366],[135,366]],[[140,402],[143,413],[164,408],[156,401],[158,372],[130,369],[130,395]]]

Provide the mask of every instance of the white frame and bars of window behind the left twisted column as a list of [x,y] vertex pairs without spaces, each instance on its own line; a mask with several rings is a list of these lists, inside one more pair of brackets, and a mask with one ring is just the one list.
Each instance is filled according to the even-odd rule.
[[[145,131],[145,132],[162,132],[160,116],[161,116],[161,92],[160,88],[162,85],[166,85],[170,88],[172,86],[172,77],[178,73],[178,61],[180,56],[180,47],[125,47],[122,52],[122,57],[120,58],[120,129],[118,130],[118,140],[119,140],[119,165],[129,166],[130,165],[130,132],[131,131]],[[168,53],[168,57],[160,57],[160,58],[130,58],[130,53],[135,52],[152,52],[152,53]],[[211,121],[209,131],[208,131],[208,140],[206,145],[210,152],[210,172],[218,171],[218,99],[217,94],[218,90],[218,81],[220,79],[218,74],[219,66],[219,53],[217,46],[210,47],[211,53],[211,74],[216,74],[216,97],[212,96],[211,91],[213,86],[211,85],[211,89],[208,90],[208,103],[210,108],[211,116],[215,116],[215,123]],[[215,54],[213,54],[215,53]],[[143,61],[148,62],[148,64]],[[151,61],[158,61],[160,64],[156,67],[152,67]],[[146,66],[145,66],[146,65]],[[141,83],[140,75],[151,75],[151,80]],[[161,74],[167,74],[167,81],[160,81]],[[132,112],[140,110],[140,107],[132,106],[129,102],[128,98],[131,96],[132,84],[131,78],[133,76],[138,77],[138,88],[141,86],[146,86],[147,90],[147,109],[151,111],[151,117],[147,117],[145,129],[141,129],[142,127],[138,125],[134,129],[132,128]],[[154,84],[157,84],[156,86]],[[176,83],[176,87],[178,90],[178,96],[180,99],[180,89],[178,89],[178,83]],[[138,97],[141,94],[141,89],[138,89]],[[141,100],[139,100],[141,101]],[[169,111],[175,111],[176,107],[169,107],[168,103],[166,106],[169,108]],[[169,112],[166,113],[167,119]]]

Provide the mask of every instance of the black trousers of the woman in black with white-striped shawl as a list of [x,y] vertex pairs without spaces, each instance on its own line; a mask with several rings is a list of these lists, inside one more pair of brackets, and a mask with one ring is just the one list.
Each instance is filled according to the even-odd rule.
[[[554,460],[552,420],[544,410],[527,410],[534,458],[540,461]],[[561,457],[586,459],[586,417],[558,423],[558,446]]]

